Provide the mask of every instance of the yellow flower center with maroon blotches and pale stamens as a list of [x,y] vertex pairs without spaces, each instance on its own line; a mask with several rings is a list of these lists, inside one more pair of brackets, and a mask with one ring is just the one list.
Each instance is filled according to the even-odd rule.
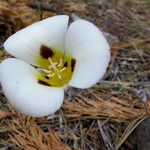
[[64,53],[42,45],[37,57],[39,68],[38,83],[52,87],[67,84],[73,74],[75,59]]

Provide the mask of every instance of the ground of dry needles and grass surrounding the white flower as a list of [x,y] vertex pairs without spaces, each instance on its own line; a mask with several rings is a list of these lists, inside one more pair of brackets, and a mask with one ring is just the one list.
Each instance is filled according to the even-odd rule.
[[103,31],[111,46],[108,70],[90,89],[70,88],[48,118],[17,112],[0,89],[0,149],[149,150],[150,1],[1,0],[0,62],[11,57],[3,49],[7,37],[59,14]]

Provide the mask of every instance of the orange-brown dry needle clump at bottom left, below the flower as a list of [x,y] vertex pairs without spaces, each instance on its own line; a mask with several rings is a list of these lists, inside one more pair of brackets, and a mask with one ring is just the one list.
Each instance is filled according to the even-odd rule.
[[47,129],[44,132],[35,122],[35,119],[17,114],[11,120],[6,120],[9,141],[23,150],[70,150],[65,146],[56,132]]

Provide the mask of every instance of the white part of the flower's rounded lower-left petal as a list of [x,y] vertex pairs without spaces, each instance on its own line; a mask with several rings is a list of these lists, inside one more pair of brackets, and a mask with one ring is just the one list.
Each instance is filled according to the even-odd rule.
[[21,112],[34,117],[53,114],[62,105],[64,91],[37,83],[37,70],[15,58],[0,64],[4,94]]

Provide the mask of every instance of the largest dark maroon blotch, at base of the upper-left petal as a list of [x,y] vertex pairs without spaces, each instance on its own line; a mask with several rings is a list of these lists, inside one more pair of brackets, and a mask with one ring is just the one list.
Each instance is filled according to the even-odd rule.
[[53,52],[52,48],[49,48],[46,45],[42,45],[40,48],[40,55],[44,59],[48,59],[49,57],[52,57],[54,55],[54,52]]

